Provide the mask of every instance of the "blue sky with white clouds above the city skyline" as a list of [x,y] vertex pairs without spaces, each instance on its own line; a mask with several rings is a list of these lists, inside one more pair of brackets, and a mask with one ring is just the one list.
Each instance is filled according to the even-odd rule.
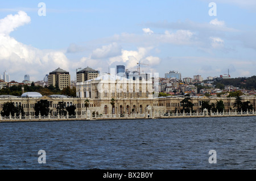
[[[213,2],[214,4],[212,5]],[[251,77],[255,0],[3,1],[0,74],[41,81],[61,68],[108,72],[116,65],[181,77]]]

